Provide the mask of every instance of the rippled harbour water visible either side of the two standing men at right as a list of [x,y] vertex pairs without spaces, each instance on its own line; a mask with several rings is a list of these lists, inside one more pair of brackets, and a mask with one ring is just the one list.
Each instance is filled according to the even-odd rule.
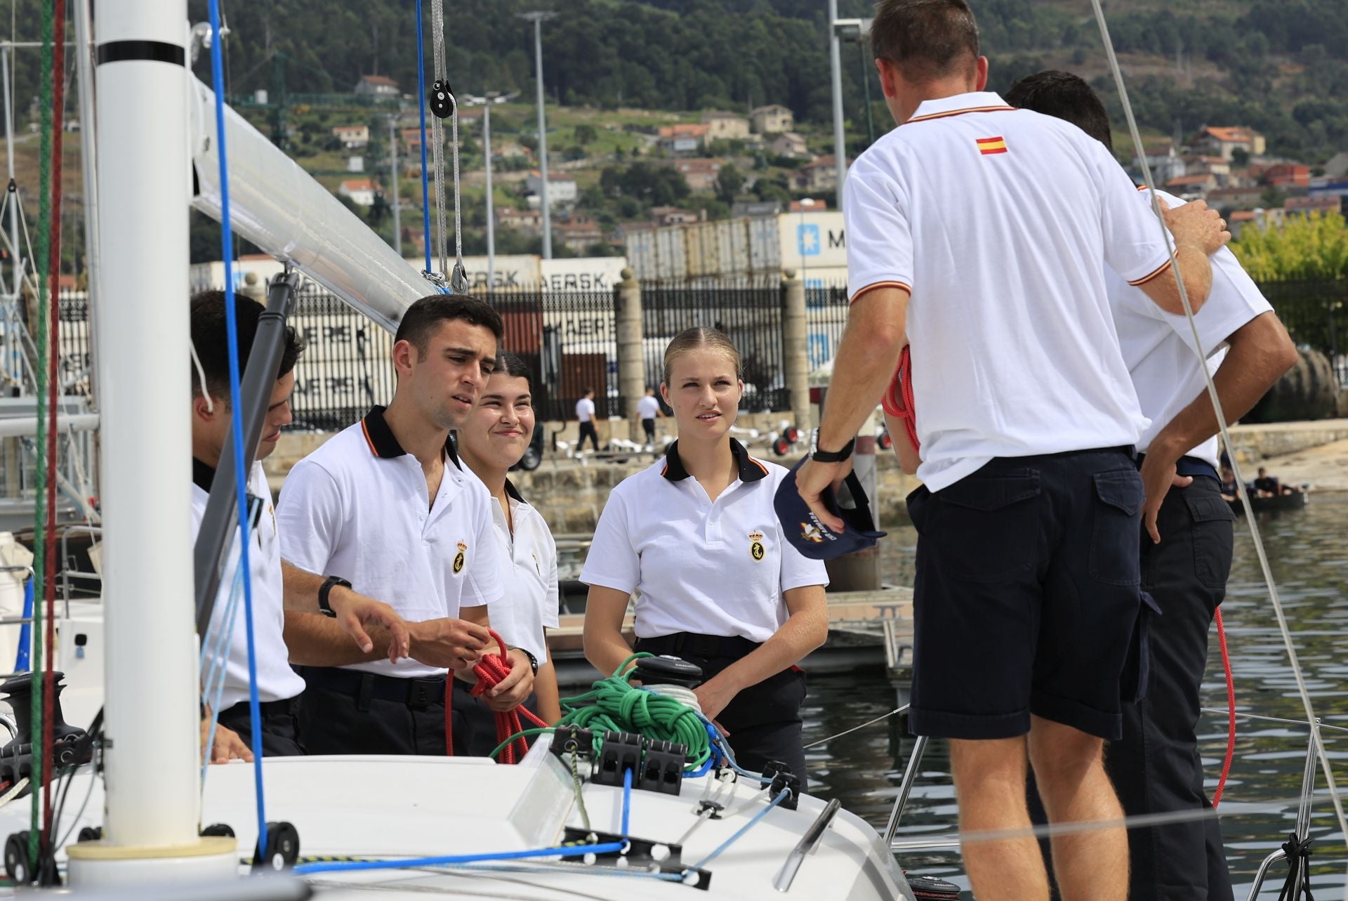
[[[1318,495],[1305,510],[1260,514],[1258,518],[1316,714],[1326,724],[1348,727],[1345,521],[1348,495],[1344,494]],[[913,584],[917,534],[911,527],[894,527],[883,544],[886,580]],[[1293,672],[1243,518],[1236,523],[1235,564],[1223,611],[1237,709],[1304,719]],[[1209,642],[1202,697],[1208,708],[1224,709],[1227,705],[1216,630]],[[899,688],[887,681],[883,669],[811,678],[805,709],[806,743],[880,716],[894,709],[898,699]],[[1324,738],[1336,781],[1344,786],[1348,784],[1348,765],[1344,763],[1348,758],[1348,732],[1326,730]],[[1227,747],[1225,715],[1204,714],[1198,739],[1211,793],[1221,773]],[[883,828],[911,749],[913,739],[900,734],[895,719],[813,747],[809,750],[810,789],[824,797],[837,797],[844,807]],[[1235,762],[1220,811],[1227,856],[1240,901],[1248,896],[1260,862],[1286,840],[1294,825],[1305,754],[1304,727],[1260,720],[1240,720],[1237,724]],[[1324,793],[1322,776],[1317,776],[1316,788],[1320,794],[1312,811],[1312,886],[1317,897],[1321,892],[1324,897],[1339,897],[1348,854]],[[1277,808],[1268,809],[1270,803]],[[1251,805],[1259,805],[1259,809],[1251,811]],[[933,742],[899,835],[953,831],[956,816],[949,755],[944,742]],[[911,874],[937,875],[968,888],[954,851],[906,854],[900,863]],[[1286,865],[1274,865],[1259,897],[1277,898],[1286,873]],[[972,896],[965,893],[962,897]]]

